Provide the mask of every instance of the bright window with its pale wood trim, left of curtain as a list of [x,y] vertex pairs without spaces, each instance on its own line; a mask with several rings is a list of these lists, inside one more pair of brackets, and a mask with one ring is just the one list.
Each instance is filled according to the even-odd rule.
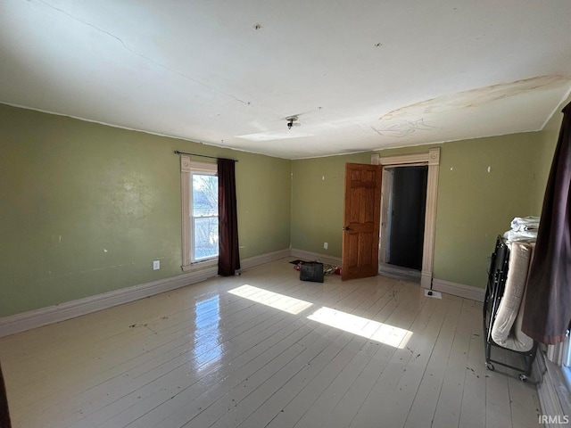
[[217,165],[180,157],[182,188],[182,268],[218,258]]

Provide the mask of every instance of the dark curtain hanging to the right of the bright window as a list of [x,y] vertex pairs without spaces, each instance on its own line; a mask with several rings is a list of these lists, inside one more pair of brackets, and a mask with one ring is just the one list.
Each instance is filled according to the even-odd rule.
[[218,160],[218,275],[221,276],[236,275],[240,269],[235,165],[236,161]]

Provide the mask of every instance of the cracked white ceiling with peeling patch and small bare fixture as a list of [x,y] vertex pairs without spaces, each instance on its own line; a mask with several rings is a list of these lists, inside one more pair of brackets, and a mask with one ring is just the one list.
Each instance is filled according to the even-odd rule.
[[2,0],[0,103],[287,159],[534,131],[570,23],[569,0]]

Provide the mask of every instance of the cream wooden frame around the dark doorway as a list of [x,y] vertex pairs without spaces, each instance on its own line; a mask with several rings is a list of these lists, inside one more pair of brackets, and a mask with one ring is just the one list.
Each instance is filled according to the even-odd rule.
[[[428,152],[401,154],[395,156],[381,156],[379,153],[371,155],[371,164],[385,167],[402,167],[413,165],[427,165],[428,177],[426,180],[426,214],[425,235],[422,247],[422,270],[420,271],[420,286],[429,289],[432,286],[434,266],[434,235],[436,230],[436,202],[438,199],[438,173],[440,170],[440,147],[433,147]],[[381,204],[383,197],[381,197]],[[380,219],[381,222],[383,219]],[[381,237],[380,243],[383,242]],[[379,243],[379,245],[380,245]],[[379,254],[383,251],[379,248]]]

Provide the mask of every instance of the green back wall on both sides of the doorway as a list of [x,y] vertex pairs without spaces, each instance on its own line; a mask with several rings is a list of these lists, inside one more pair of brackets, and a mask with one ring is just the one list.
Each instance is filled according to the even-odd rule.
[[[380,153],[427,152],[429,147],[441,147],[434,277],[484,287],[495,237],[509,229],[512,218],[541,212],[550,137],[526,133]],[[370,154],[292,162],[293,248],[341,257],[344,163],[368,163]],[[329,251],[323,250],[324,242]]]

